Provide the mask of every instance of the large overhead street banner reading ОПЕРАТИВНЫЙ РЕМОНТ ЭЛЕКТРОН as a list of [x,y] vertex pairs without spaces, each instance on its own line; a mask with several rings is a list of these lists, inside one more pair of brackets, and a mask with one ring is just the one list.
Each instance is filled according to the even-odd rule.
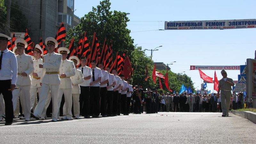
[[256,19],[165,21],[164,30],[256,28]]

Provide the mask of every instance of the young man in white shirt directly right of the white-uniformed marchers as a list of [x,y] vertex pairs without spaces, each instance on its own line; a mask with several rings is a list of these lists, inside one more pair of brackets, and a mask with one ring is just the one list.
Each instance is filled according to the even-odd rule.
[[86,58],[81,58],[81,67],[77,68],[82,71],[84,82],[79,84],[81,93],[79,96],[80,115],[85,118],[90,118],[90,82],[92,77],[92,70],[86,66]]

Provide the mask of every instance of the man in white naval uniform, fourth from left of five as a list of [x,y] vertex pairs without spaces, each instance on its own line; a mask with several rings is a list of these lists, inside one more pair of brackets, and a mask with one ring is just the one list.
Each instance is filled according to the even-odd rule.
[[58,48],[58,52],[62,55],[62,60],[60,64],[60,87],[59,87],[59,108],[62,95],[65,98],[65,111],[63,110],[63,118],[70,120],[72,118],[72,81],[70,76],[75,76],[76,68],[74,62],[67,60],[69,49],[66,47]]

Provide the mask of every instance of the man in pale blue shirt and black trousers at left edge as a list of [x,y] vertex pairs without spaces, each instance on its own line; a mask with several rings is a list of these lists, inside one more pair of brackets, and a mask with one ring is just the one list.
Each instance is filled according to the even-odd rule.
[[12,90],[17,82],[17,59],[13,52],[7,49],[11,37],[0,34],[0,94],[5,103],[5,124],[11,125],[13,120]]

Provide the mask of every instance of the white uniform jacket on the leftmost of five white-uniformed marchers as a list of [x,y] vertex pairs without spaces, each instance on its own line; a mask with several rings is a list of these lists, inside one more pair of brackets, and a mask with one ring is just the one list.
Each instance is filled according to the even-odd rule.
[[[31,85],[30,74],[34,71],[34,62],[31,55],[22,54],[17,55],[18,62],[18,78],[17,85]],[[25,72],[28,76],[21,76],[21,73]]]

